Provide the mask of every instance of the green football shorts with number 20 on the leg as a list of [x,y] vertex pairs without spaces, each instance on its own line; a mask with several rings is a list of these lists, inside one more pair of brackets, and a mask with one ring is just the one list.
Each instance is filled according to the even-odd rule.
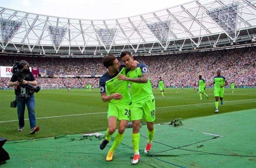
[[108,118],[115,116],[118,120],[131,119],[131,105],[128,103],[109,103],[108,104]]

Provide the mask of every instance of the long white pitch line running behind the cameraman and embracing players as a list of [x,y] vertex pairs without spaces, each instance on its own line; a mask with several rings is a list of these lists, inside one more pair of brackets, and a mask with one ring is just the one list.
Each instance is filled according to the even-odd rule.
[[[245,99],[245,100],[236,100],[236,101],[249,101],[249,100],[256,100],[256,98]],[[234,102],[234,101],[224,101],[224,102],[227,103],[227,102]],[[181,106],[196,106],[196,105],[213,104],[213,103],[215,103],[215,102],[212,102],[212,103],[201,103],[201,104],[187,104],[187,105],[180,105],[180,106],[156,107],[156,109],[170,108],[170,107],[181,107]],[[107,112],[94,112],[94,113],[85,113],[85,114],[76,114],[76,115],[93,115],[93,114],[102,114],[102,113],[107,113]],[[51,116],[51,117],[40,117],[40,118],[36,118],[36,119],[68,117],[68,116],[76,116],[76,115],[59,115],[59,116]],[[25,120],[29,120],[29,119],[27,118]],[[13,121],[18,121],[18,120],[0,121],[0,123],[7,123],[7,122],[13,122]]]

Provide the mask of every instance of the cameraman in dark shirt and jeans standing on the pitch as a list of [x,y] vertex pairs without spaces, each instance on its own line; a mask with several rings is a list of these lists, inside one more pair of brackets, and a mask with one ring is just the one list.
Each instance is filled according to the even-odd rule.
[[[26,61],[21,61],[21,64],[23,64],[23,69],[29,67],[29,63]],[[23,70],[22,69],[22,70]],[[32,72],[29,71],[29,75],[23,79],[22,83],[20,83],[18,80],[18,76],[16,74],[12,75],[11,81],[9,83],[9,87],[15,86],[15,90],[17,89],[17,92],[21,92],[21,85],[25,84],[31,84],[33,86],[37,85],[37,81],[35,80],[34,75]],[[16,93],[16,92],[15,92]],[[16,95],[17,100],[17,95]],[[17,101],[17,113],[18,113],[18,119],[19,119],[19,129],[18,131],[23,131],[23,127],[25,125],[24,123],[24,112],[25,112],[25,106],[27,106],[28,112],[29,112],[29,123],[30,123],[30,134],[35,134],[35,132],[39,131],[39,126],[35,125],[35,97],[34,93],[30,95],[27,98],[23,98],[21,100]]]

